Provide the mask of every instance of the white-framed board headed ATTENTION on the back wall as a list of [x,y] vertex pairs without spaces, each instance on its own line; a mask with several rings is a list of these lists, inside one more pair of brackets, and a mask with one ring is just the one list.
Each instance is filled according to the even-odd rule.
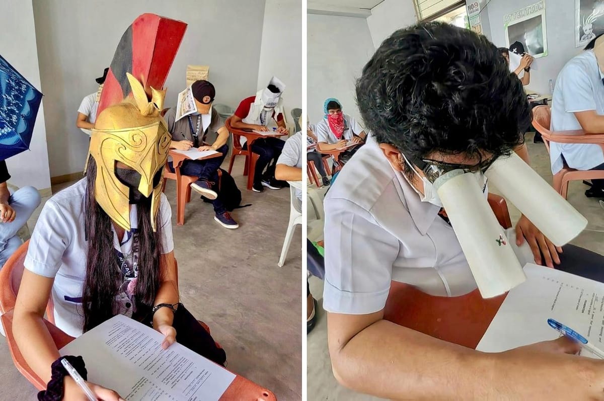
[[518,54],[524,52],[538,59],[547,56],[545,6],[540,1],[504,19],[506,45]]

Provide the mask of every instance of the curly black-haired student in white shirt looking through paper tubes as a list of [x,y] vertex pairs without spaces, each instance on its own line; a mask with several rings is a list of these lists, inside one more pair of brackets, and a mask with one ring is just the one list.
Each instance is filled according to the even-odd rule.
[[[485,354],[384,320],[391,280],[445,297],[476,288],[417,164],[473,172],[486,196],[483,173],[494,158],[512,149],[526,158],[530,106],[498,49],[448,24],[403,28],[365,65],[356,97],[371,138],[324,202],[323,306],[336,379],[388,399],[602,398],[604,364],[566,356],[578,350],[566,338]],[[524,216],[507,236],[521,263],[580,265],[588,254],[592,277],[602,266],[602,257],[576,247],[559,255]]]

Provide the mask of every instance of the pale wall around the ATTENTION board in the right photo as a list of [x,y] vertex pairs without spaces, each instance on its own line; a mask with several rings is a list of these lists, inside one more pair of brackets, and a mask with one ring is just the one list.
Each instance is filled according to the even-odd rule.
[[[506,46],[503,18],[506,14],[534,4],[536,0],[491,1],[483,13],[488,14],[490,39],[497,47]],[[580,53],[574,47],[574,1],[547,0],[545,2],[548,56],[535,60],[536,71],[531,70],[528,88],[542,94],[550,93],[549,81],[554,80],[565,63]]]

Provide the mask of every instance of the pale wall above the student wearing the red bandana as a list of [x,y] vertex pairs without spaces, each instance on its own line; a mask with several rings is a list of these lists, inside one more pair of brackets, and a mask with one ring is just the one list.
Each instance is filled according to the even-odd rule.
[[367,19],[308,14],[307,24],[310,122],[323,118],[323,103],[328,97],[338,98],[344,113],[361,121],[355,82],[375,50]]

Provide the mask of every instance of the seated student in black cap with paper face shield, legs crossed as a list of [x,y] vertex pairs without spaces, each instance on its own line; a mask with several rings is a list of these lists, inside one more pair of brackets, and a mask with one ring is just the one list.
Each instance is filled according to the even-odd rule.
[[[191,188],[212,201],[214,221],[224,228],[235,229],[239,224],[226,210],[223,199],[220,199],[221,195],[214,190],[219,181],[218,170],[228,153],[226,143],[229,137],[220,114],[212,107],[214,98],[214,85],[206,80],[195,81],[178,95],[178,104],[164,117],[172,135],[170,149],[220,153],[216,158],[183,161],[181,174],[198,177]],[[207,141],[211,139],[213,143],[210,144]],[[169,166],[173,169],[172,162],[169,162]]]

